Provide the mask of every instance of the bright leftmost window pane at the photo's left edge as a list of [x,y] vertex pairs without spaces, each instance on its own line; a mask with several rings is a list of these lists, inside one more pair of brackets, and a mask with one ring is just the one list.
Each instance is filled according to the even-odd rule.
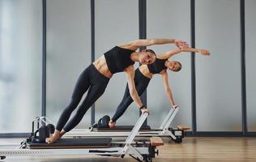
[[41,115],[41,0],[0,1],[0,133]]

